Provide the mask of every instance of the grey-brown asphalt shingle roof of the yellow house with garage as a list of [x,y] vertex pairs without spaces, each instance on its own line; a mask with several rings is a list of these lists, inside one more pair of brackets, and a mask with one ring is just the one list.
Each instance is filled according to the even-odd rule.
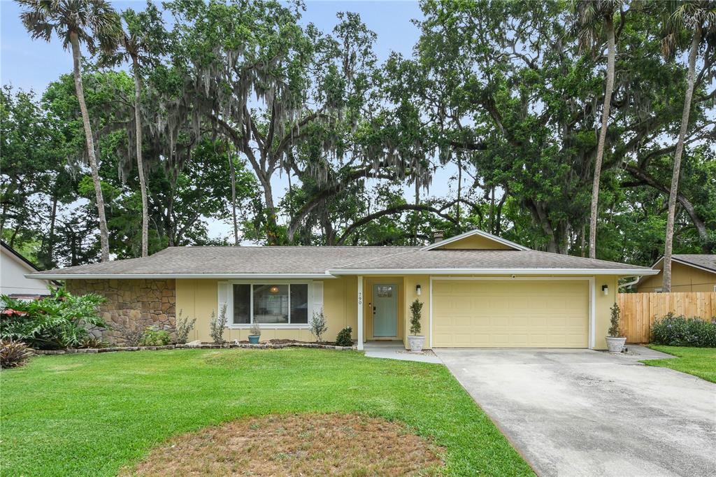
[[314,275],[367,269],[649,270],[611,261],[534,250],[421,250],[420,247],[170,247],[142,259],[40,271],[43,275]]

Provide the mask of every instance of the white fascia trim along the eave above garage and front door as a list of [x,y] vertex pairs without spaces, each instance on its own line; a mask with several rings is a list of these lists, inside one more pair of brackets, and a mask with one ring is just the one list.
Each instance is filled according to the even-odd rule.
[[449,275],[449,274],[508,274],[508,275],[656,275],[650,269],[332,269],[332,275]]

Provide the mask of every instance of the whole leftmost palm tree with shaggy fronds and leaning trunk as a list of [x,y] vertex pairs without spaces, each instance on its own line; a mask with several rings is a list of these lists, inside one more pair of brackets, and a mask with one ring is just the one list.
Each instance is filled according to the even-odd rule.
[[89,168],[92,170],[92,183],[95,185],[95,198],[97,213],[100,216],[100,246],[102,248],[102,261],[110,259],[110,238],[107,231],[107,218],[105,216],[105,199],[102,197],[100,173],[95,157],[95,142],[92,136],[92,126],[89,124],[87,103],[84,102],[84,87],[82,86],[82,52],[79,44],[82,42],[89,54],[95,54],[98,49],[111,52],[117,47],[121,38],[122,27],[120,16],[105,0],[16,0],[25,11],[20,19],[32,39],[44,39],[49,42],[52,34],[57,34],[62,40],[64,49],[72,49],[72,64],[74,68],[74,89],[77,91],[79,110],[82,112],[84,124],[84,137],[87,142],[87,155]]

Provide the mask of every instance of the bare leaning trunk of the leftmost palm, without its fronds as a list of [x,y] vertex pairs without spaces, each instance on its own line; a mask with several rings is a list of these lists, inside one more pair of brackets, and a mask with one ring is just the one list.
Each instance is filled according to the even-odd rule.
[[105,199],[102,197],[102,185],[100,183],[100,171],[97,168],[95,158],[95,141],[92,139],[92,126],[89,125],[89,113],[87,104],[84,102],[84,87],[82,86],[81,52],[79,51],[79,39],[77,33],[70,32],[69,42],[72,44],[72,64],[74,69],[74,89],[77,91],[79,110],[82,112],[82,124],[84,125],[84,139],[87,142],[87,156],[89,157],[89,168],[92,170],[92,183],[95,185],[95,200],[97,201],[97,214],[100,216],[100,248],[102,261],[110,260],[110,234],[107,231],[107,218],[105,216]]

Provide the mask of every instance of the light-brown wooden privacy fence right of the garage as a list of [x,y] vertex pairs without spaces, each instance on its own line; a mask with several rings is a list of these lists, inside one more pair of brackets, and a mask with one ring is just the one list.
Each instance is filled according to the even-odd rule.
[[716,292],[620,293],[621,328],[629,343],[648,343],[654,319],[672,312],[684,317],[716,316]]

